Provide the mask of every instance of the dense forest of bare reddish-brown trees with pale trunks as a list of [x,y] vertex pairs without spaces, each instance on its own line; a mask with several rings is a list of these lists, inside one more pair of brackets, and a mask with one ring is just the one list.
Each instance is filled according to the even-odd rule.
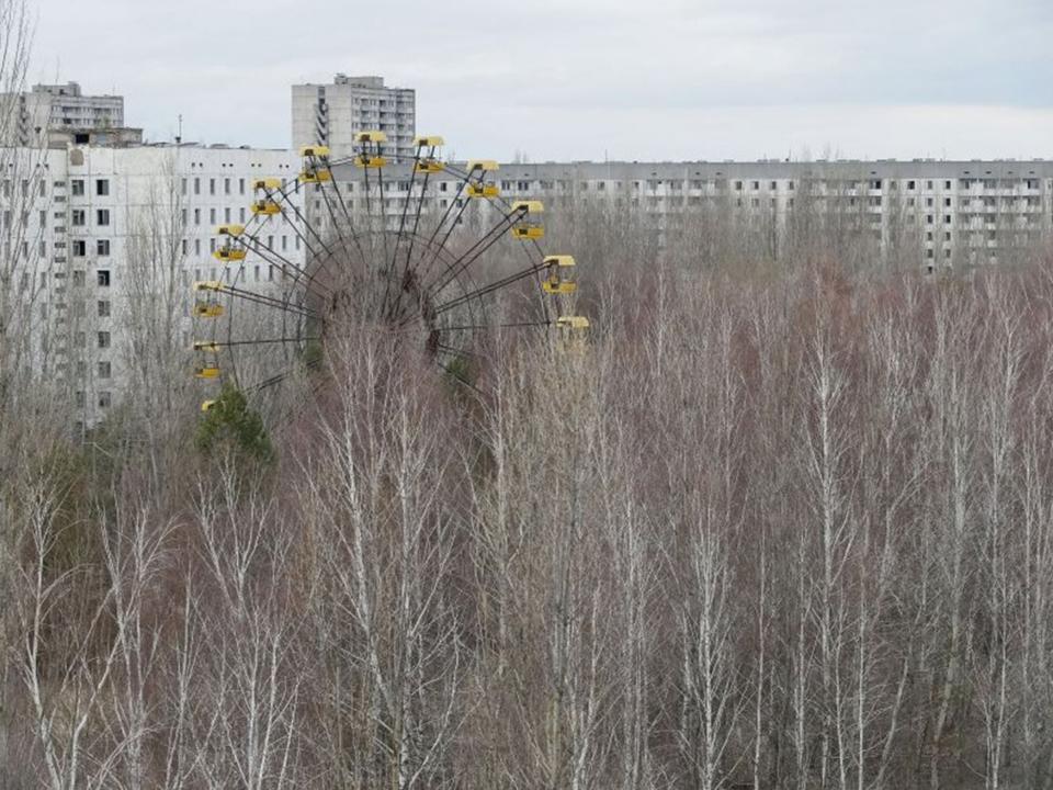
[[1053,787],[1046,253],[570,218],[591,331],[474,391],[9,382],[0,787]]

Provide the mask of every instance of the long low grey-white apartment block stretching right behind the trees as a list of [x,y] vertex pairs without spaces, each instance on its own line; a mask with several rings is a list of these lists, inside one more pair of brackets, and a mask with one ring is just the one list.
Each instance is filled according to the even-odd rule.
[[[336,178],[363,173],[341,166]],[[487,180],[506,199],[544,201],[547,218],[582,202],[638,211],[659,242],[707,211],[774,227],[794,212],[837,215],[880,246],[914,239],[929,269],[997,262],[1053,233],[1053,161],[1045,160],[502,163]],[[385,181],[388,216],[397,217],[421,180],[403,166]],[[426,207],[463,200],[458,185],[449,173],[431,177]]]

